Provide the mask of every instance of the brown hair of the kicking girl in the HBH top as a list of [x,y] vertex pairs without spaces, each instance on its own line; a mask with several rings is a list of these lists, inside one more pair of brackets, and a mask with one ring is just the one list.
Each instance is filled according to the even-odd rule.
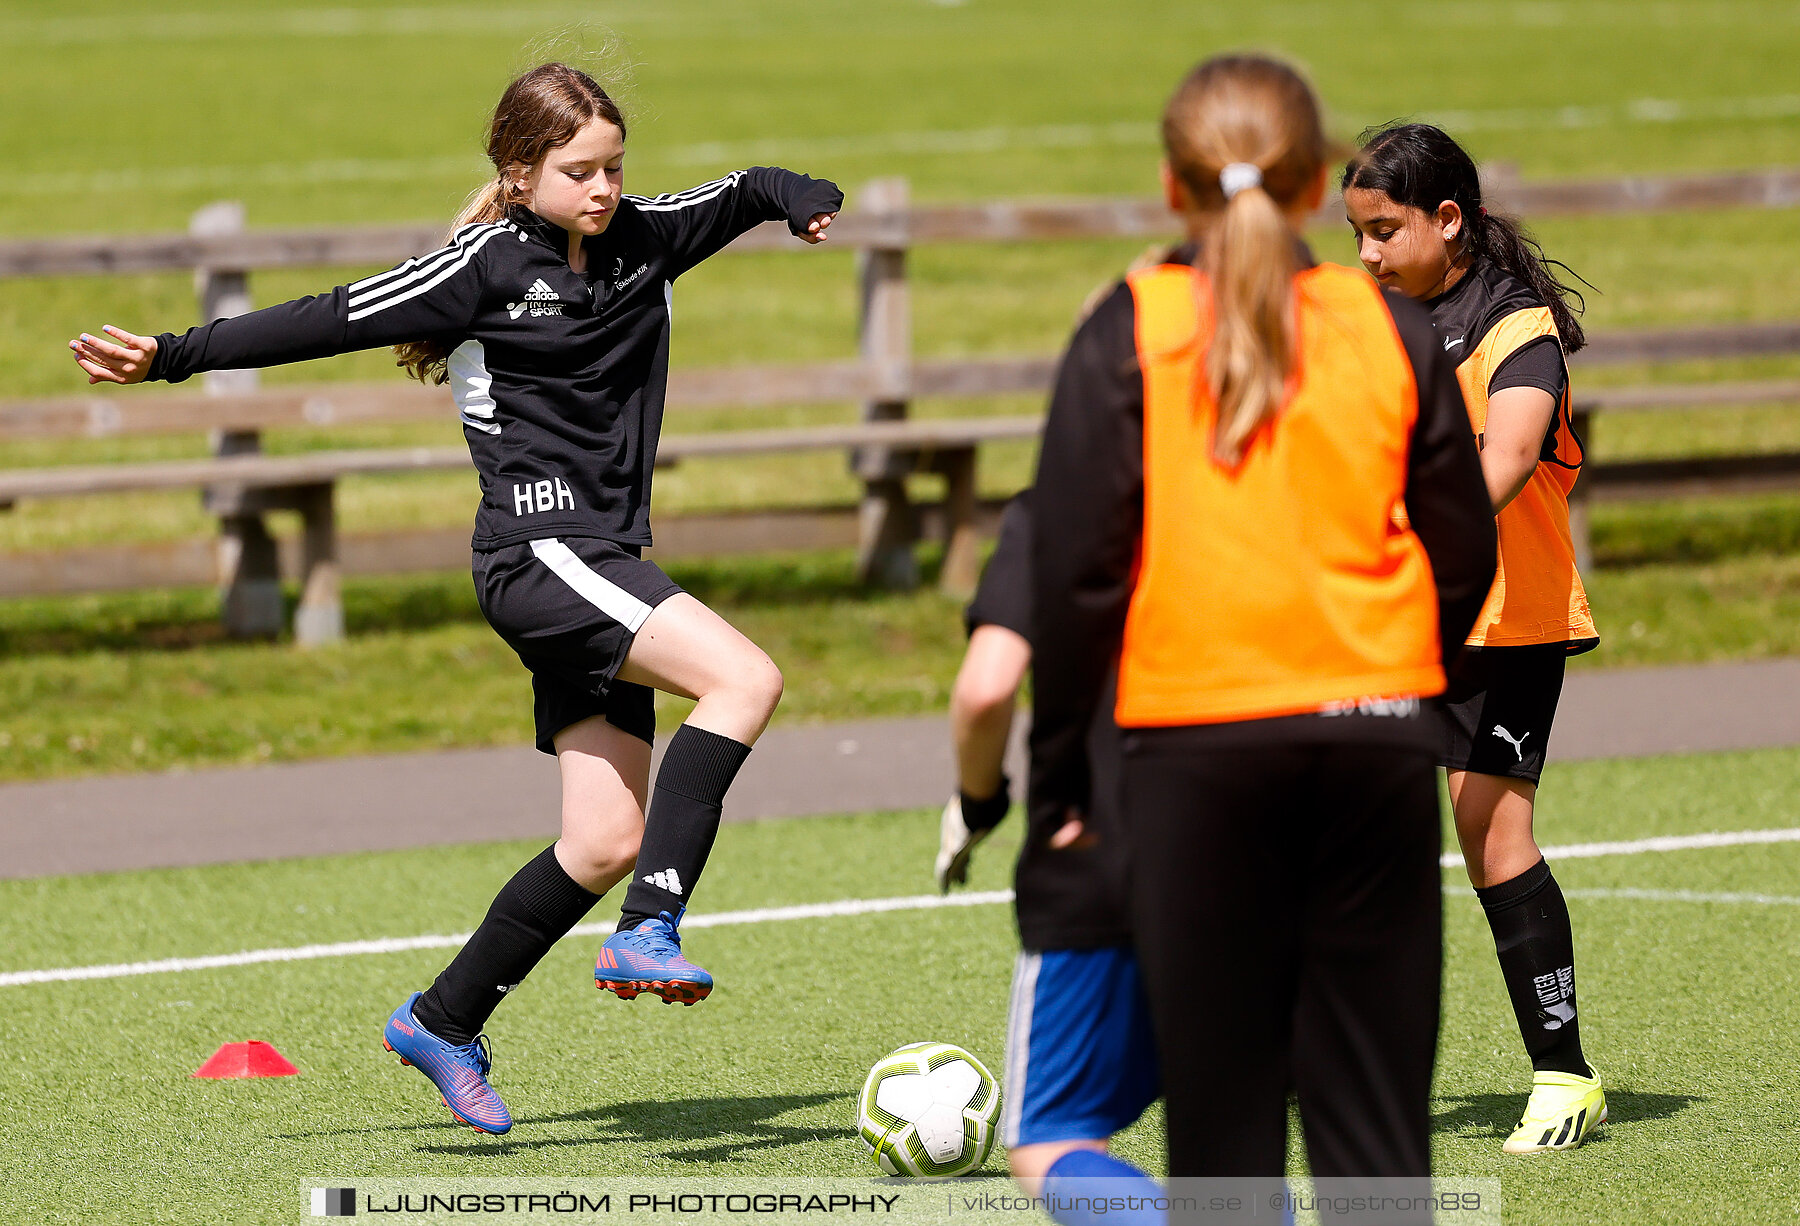
[[[619,104],[599,88],[594,77],[565,63],[540,63],[506,86],[488,124],[488,160],[493,178],[470,193],[450,223],[450,236],[477,221],[500,221],[506,211],[520,203],[511,184],[520,171],[529,171],[551,149],[569,144],[581,128],[601,119],[625,137],[625,115]],[[409,340],[394,346],[394,365],[421,383],[443,383],[450,378],[450,349],[441,340]]]

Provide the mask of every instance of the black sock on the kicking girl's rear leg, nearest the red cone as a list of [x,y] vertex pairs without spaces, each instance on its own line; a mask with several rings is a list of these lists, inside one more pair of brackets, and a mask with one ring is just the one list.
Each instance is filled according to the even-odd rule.
[[481,927],[437,983],[419,996],[412,1017],[445,1042],[473,1041],[506,994],[596,902],[599,895],[587,891],[556,861],[556,844],[544,848],[500,886]]

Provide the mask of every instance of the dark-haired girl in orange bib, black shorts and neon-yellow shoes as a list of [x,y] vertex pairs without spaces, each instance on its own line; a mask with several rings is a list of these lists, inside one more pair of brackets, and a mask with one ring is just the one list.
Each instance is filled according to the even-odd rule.
[[1341,187],[1363,266],[1431,310],[1481,445],[1499,571],[1436,702],[1442,765],[1534,1068],[1525,1116],[1503,1149],[1573,1149],[1606,1120],[1606,1093],[1582,1055],[1575,938],[1532,835],[1532,808],[1564,663],[1600,641],[1568,509],[1582,445],[1564,356],[1586,342],[1580,295],[1516,221],[1481,205],[1474,162],[1431,124],[1368,135]]

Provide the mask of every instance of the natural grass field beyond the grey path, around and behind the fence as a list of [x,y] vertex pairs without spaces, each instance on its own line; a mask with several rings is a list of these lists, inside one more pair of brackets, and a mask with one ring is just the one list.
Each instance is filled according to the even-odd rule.
[[[698,0],[511,9],[344,0],[254,13],[191,0],[140,16],[130,27],[95,23],[54,0],[0,11],[0,45],[25,52],[0,79],[0,103],[18,119],[0,131],[0,157],[16,171],[0,182],[0,230],[178,230],[220,196],[241,198],[252,227],[446,220],[482,175],[479,133],[500,83],[529,58],[527,45],[556,31],[565,38],[547,50],[630,83],[634,191],[788,162],[837,176],[851,205],[855,189],[880,175],[907,176],[923,202],[1147,196],[1166,92],[1197,58],[1244,45],[1305,61],[1345,135],[1393,115],[1436,115],[1480,158],[1510,160],[1528,178],[1800,162],[1800,101],[1784,86],[1800,22],[1773,0],[1440,5],[1429,22],[1408,22],[1411,54],[1379,67],[1345,54],[1366,45],[1366,18],[1312,0],[1240,11],[1121,0],[1105,13],[1033,0],[871,0],[853,18],[821,16],[799,0],[740,4],[729,16]],[[610,50],[601,50],[605,31],[617,36]],[[1667,77],[1667,63],[1683,65],[1679,79]],[[821,97],[832,104],[821,108]],[[119,115],[180,140],[72,157]],[[1537,230],[1600,288],[1588,315],[1597,329],[1800,317],[1800,283],[1768,272],[1800,259],[1800,209],[1555,218]],[[1312,243],[1323,259],[1354,257],[1343,227],[1314,232]],[[929,356],[1051,353],[1082,299],[1139,247],[920,248],[911,256],[916,347]],[[853,263],[851,252],[796,247],[695,270],[677,295],[675,364],[853,355]],[[268,272],[252,288],[256,301],[275,302],[356,272]],[[68,335],[101,322],[178,328],[193,313],[185,274],[0,283],[0,394],[86,394],[61,347]],[[1800,358],[1602,369],[1580,371],[1577,391],[1795,373]],[[398,374],[387,353],[364,353],[266,378]],[[1021,396],[916,412],[1039,409],[1040,398]],[[668,430],[853,414],[850,405],[671,410]],[[446,419],[266,436],[275,454],[419,443],[454,446],[457,428]],[[1600,419],[1593,454],[1795,446],[1791,409],[1742,409],[1613,414]],[[0,464],[205,450],[200,436],[16,443]],[[983,448],[985,493],[1022,486],[1031,455],[1028,443]],[[922,497],[936,488],[916,482]],[[657,475],[662,513],[832,504],[855,491],[835,454],[695,461]],[[338,524],[346,533],[463,527],[473,499],[468,473],[351,479],[338,490]],[[1800,650],[1791,556],[1800,500],[1604,506],[1593,520],[1600,569],[1589,587],[1606,646],[1580,666]],[[272,522],[293,531],[292,515]],[[193,491],[68,499],[0,513],[0,551],[212,531]],[[954,605],[931,592],[855,592],[846,567],[839,556],[673,569],[700,585],[760,585],[760,596],[724,598],[724,608],[787,668],[781,718],[941,709],[961,650]],[[781,581],[763,583],[769,576]],[[466,578],[355,580],[346,599],[351,639],[319,654],[220,641],[209,592],[0,603],[0,778],[526,738],[524,675],[479,623]]]

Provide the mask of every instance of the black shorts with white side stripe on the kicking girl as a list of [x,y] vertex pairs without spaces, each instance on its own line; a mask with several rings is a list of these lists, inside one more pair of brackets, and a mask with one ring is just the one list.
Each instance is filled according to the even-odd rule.
[[556,753],[556,733],[603,715],[639,740],[655,738],[648,686],[619,681],[639,627],[680,590],[635,545],[598,536],[527,540],[475,553],[481,612],[531,670],[536,744]]

